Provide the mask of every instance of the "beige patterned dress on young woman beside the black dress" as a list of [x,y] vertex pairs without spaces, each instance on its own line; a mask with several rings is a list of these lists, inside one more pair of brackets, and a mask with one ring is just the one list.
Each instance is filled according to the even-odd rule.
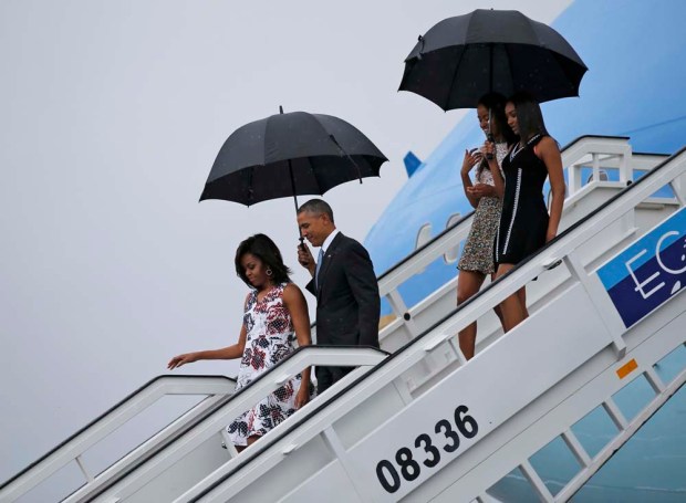
[[[496,159],[499,167],[502,166],[507,153],[507,144],[496,144]],[[500,168],[500,172],[502,172],[502,168]],[[493,175],[490,169],[477,170],[476,182],[493,186]],[[467,241],[465,241],[462,256],[457,263],[457,269],[460,271],[475,271],[482,274],[496,272],[493,240],[498,231],[501,206],[500,198],[482,197],[479,199]]]

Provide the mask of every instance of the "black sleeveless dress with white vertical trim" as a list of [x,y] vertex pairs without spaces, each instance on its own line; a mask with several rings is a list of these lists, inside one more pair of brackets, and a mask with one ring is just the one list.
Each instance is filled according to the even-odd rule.
[[548,169],[533,153],[541,139],[536,135],[521,148],[514,145],[502,161],[505,197],[496,235],[496,263],[517,264],[545,244],[549,217],[543,184]]

